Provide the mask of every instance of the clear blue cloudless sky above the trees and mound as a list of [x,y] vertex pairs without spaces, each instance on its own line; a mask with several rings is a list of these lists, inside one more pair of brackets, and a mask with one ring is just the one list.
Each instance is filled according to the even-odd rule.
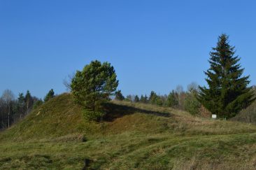
[[94,59],[127,94],[205,85],[211,48],[229,35],[256,84],[256,1],[0,0],[0,92],[44,97]]

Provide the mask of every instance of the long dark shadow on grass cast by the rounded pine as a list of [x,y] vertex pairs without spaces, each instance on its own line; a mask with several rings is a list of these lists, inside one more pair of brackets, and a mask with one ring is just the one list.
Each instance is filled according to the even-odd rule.
[[171,117],[171,113],[159,112],[159,111],[148,111],[141,108],[134,108],[133,106],[124,106],[118,104],[108,103],[104,106],[106,116],[104,120],[112,122],[116,118],[121,118],[124,115],[131,115],[134,113],[144,113],[148,115],[157,115],[161,117]]

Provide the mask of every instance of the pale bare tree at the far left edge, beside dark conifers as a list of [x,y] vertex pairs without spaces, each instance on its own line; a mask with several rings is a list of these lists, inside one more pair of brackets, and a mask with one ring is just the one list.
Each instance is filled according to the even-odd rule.
[[14,101],[14,94],[11,90],[4,90],[1,96],[3,104],[7,106],[7,114],[8,114],[8,128],[10,127],[10,107],[12,101]]

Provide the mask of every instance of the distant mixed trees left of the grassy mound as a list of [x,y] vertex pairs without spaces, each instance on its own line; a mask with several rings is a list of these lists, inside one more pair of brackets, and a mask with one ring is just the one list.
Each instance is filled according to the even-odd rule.
[[4,90],[0,97],[0,129],[6,129],[13,123],[22,120],[33,109],[52,97],[55,97],[53,90],[50,90],[43,100],[32,96],[27,90],[26,94],[19,93],[16,99],[11,90]]

